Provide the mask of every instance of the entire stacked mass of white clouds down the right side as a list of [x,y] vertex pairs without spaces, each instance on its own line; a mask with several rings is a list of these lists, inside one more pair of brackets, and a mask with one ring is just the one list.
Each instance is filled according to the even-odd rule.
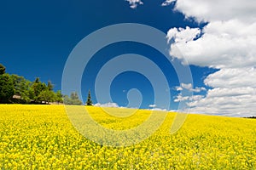
[[[191,111],[227,116],[256,116],[256,3],[253,0],[167,0],[186,18],[207,26],[172,28],[167,33],[170,55],[183,64],[207,66],[219,71],[204,83],[212,89],[205,97],[190,100]],[[184,61],[186,59],[186,61]],[[178,87],[181,90],[184,87]]]

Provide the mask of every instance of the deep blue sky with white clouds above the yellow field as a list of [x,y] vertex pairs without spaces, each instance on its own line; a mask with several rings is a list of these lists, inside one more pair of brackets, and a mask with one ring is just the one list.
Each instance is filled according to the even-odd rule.
[[[58,90],[61,89],[62,71],[66,60],[73,48],[84,37],[105,26],[139,23],[165,32],[168,34],[167,38],[172,39],[172,44],[179,47],[190,64],[194,82],[192,87],[178,82],[172,65],[166,65],[166,60],[156,50],[136,42],[118,42],[102,48],[90,61],[87,68],[90,70],[90,75],[84,74],[82,79],[84,99],[90,89],[92,99],[96,103],[94,83],[101,65],[116,55],[134,53],[152,59],[163,70],[172,95],[168,109],[177,110],[178,101],[187,100],[194,112],[227,116],[255,114],[254,106],[251,104],[255,99],[255,86],[252,85],[254,82],[251,78],[255,76],[253,49],[235,45],[221,48],[216,45],[231,44],[230,39],[237,34],[234,36],[236,43],[253,47],[254,41],[247,44],[246,37],[253,38],[255,34],[245,28],[249,27],[252,30],[254,28],[255,20],[247,17],[248,13],[254,16],[254,7],[249,12],[245,12],[243,8],[245,3],[234,3],[232,5],[238,8],[237,12],[227,12],[230,11],[229,1],[221,3],[223,7],[228,8],[227,10],[219,8],[218,4],[204,1],[191,4],[185,0],[183,3],[172,0],[166,3],[139,0],[130,2],[131,4],[125,0],[113,0],[111,3],[103,0],[2,1],[0,3],[0,63],[7,67],[7,72],[18,74],[31,81],[35,77],[40,77],[43,82],[50,80],[54,82],[55,90]],[[212,9],[202,10],[208,6]],[[214,8],[216,10],[211,11]],[[245,18],[247,20],[244,20]],[[219,20],[222,22],[218,22]],[[237,27],[231,29],[232,26]],[[239,33],[241,30],[242,35]],[[169,48],[170,58],[180,59],[182,62],[182,57],[177,54],[172,45],[169,45]],[[207,48],[212,48],[212,53],[208,52],[210,49]],[[245,51],[251,53],[248,54]],[[251,56],[250,59],[248,59],[249,56]],[[245,64],[241,65],[241,61]],[[245,71],[247,71],[246,76],[242,75]],[[234,72],[237,78],[232,79]],[[239,83],[236,83],[236,80],[240,77],[247,77],[247,79],[243,84],[237,85]],[[224,80],[230,83],[222,86]],[[113,99],[111,102],[119,106],[127,105],[126,94],[131,88],[137,88],[143,94],[141,108],[154,105],[152,86],[147,78],[132,71],[122,73],[113,80],[110,90]],[[178,88],[194,92],[195,98],[189,99],[182,96]],[[249,94],[251,95],[248,97]],[[223,100],[231,102],[224,105]],[[250,107],[245,113],[242,109],[247,105]]]

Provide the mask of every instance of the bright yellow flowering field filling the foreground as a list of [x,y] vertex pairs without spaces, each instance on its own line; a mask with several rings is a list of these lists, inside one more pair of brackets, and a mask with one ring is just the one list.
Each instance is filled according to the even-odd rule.
[[[75,107],[75,106],[73,106]],[[103,127],[137,127],[150,111],[127,118],[89,107]],[[117,115],[128,109],[111,109]],[[63,105],[0,105],[1,169],[256,169],[256,120],[189,115],[170,134],[175,113],[129,147],[96,144],[79,134]]]

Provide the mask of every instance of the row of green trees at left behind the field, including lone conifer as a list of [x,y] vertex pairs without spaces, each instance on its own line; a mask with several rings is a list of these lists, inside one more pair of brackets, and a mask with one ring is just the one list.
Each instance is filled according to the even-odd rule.
[[[61,94],[61,90],[54,92],[52,82],[41,82],[37,77],[30,82],[24,77],[5,72],[5,67],[0,64],[0,103],[1,104],[49,104],[56,102],[66,105],[82,105],[79,95],[73,92],[70,96]],[[90,92],[87,105],[92,105]]]

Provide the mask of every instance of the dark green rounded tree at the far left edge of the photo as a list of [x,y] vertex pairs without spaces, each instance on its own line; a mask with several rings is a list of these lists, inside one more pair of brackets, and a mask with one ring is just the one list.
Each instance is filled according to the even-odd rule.
[[9,74],[0,75],[0,103],[10,103],[15,94],[14,83]]

